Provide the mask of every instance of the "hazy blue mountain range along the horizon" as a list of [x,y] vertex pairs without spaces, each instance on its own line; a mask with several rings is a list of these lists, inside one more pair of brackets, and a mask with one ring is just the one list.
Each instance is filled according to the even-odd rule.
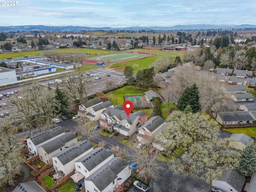
[[64,32],[64,31],[94,31],[94,30],[218,30],[218,29],[256,29],[256,25],[242,24],[242,25],[210,25],[210,24],[197,24],[197,25],[176,25],[172,27],[125,27],[125,28],[111,28],[111,27],[83,27],[83,26],[45,26],[45,25],[26,25],[26,26],[0,26],[0,31],[50,31],[50,32]]

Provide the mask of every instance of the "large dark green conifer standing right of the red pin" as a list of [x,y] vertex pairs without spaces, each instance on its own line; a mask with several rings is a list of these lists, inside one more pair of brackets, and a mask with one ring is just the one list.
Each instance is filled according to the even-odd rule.
[[177,104],[178,110],[184,111],[185,108],[190,105],[191,111],[196,113],[200,110],[199,104],[199,91],[196,84],[191,87],[187,87],[180,96]]

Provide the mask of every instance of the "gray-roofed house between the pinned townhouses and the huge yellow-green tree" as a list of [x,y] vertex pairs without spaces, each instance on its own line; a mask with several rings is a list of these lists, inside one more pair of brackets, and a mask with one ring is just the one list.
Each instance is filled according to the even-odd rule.
[[165,124],[165,120],[160,116],[154,116],[147,120],[144,125],[138,128],[137,140],[142,143],[146,143],[154,137],[154,134],[158,132]]

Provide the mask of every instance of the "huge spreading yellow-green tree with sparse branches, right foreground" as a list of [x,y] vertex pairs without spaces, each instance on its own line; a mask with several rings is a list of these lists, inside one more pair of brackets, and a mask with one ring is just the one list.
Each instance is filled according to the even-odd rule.
[[[184,149],[180,158],[171,161],[169,167],[173,174],[182,173],[210,183],[227,168],[239,166],[240,153],[230,149],[230,138],[219,137],[217,123],[210,116],[193,114],[187,107],[184,112],[173,112],[169,120],[174,123],[163,132],[165,139],[170,140],[168,153],[177,147]],[[220,156],[222,150],[229,150],[230,154]]]

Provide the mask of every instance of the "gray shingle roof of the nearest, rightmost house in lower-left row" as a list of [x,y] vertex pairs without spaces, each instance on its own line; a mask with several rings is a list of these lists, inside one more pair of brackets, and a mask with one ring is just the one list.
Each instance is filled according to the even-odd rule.
[[128,166],[128,163],[122,158],[114,157],[85,180],[92,181],[102,191],[118,177],[117,175],[126,166]]

